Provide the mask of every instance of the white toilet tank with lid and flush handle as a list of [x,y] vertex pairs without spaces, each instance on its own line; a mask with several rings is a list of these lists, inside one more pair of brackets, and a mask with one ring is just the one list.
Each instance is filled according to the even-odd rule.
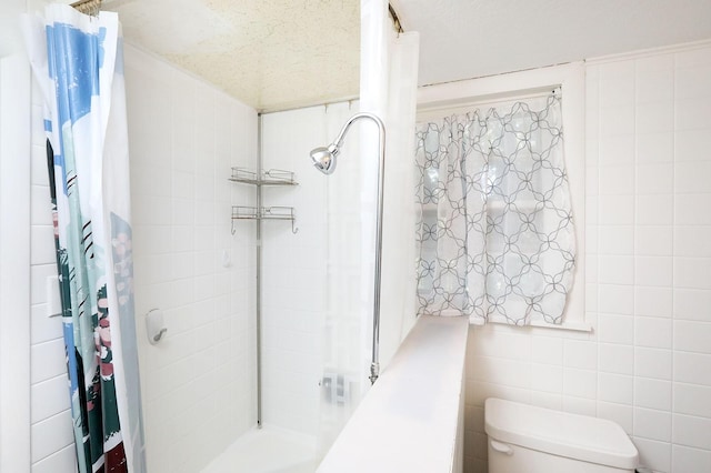
[[489,397],[489,473],[633,473],[638,452],[612,421]]

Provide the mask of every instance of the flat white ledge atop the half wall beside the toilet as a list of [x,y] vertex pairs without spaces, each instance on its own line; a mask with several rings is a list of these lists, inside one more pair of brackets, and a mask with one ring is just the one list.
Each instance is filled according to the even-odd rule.
[[451,472],[468,331],[468,318],[421,315],[317,472]]

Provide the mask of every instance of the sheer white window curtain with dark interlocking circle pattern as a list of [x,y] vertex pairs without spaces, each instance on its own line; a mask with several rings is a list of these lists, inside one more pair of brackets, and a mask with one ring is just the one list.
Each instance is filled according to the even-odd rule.
[[575,242],[561,91],[418,123],[419,314],[560,324]]

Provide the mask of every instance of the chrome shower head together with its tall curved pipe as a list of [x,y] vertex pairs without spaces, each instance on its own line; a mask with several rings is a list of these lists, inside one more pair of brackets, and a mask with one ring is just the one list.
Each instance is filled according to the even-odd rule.
[[350,125],[359,119],[370,119],[378,124],[378,215],[375,220],[375,275],[373,288],[373,342],[372,342],[372,360],[370,363],[370,382],[375,382],[380,374],[379,362],[379,349],[380,349],[380,269],[381,269],[381,253],[382,253],[382,197],[383,197],[383,183],[384,183],[384,170],[385,170],[385,125],[382,120],[372,113],[356,113],[351,117],[338,138],[333,143],[328,147],[314,148],[311,151],[311,160],[313,167],[324,174],[332,174],[336,170],[336,158],[338,157],[341,145],[343,145],[343,139],[346,132]]

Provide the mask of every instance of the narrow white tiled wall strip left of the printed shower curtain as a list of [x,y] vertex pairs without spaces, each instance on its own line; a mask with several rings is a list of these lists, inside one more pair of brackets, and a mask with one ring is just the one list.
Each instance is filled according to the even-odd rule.
[[77,470],[61,318],[50,318],[57,292],[54,236],[47,174],[42,95],[33,81],[30,193],[30,411],[32,473]]

